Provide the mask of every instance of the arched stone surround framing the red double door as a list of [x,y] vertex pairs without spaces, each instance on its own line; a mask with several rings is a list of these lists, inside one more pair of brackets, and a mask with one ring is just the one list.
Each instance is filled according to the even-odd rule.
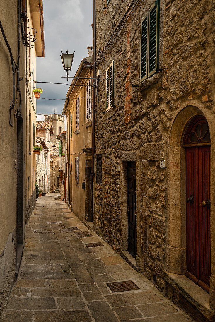
[[[168,133],[168,245],[166,270],[178,275],[186,272],[186,175],[185,175],[185,148],[182,147],[183,136],[193,117],[202,115],[206,118],[211,138],[211,167],[210,167],[210,240],[211,240],[211,277],[210,302],[215,300],[215,159],[214,149],[214,116],[205,106],[189,102],[177,110],[172,119]],[[212,123],[213,122],[213,123]],[[174,191],[174,193],[171,193]]]

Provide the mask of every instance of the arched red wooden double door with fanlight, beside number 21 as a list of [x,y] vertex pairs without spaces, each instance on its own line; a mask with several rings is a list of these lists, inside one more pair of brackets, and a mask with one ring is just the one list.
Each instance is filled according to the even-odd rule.
[[194,117],[184,135],[186,152],[186,276],[210,290],[210,132]]

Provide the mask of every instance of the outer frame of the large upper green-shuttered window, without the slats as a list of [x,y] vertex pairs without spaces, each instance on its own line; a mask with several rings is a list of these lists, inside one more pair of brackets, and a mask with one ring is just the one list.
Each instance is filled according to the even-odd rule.
[[[156,66],[155,69],[153,69],[151,72],[149,72],[149,44],[150,44],[150,38],[149,38],[149,31],[150,31],[150,13],[156,6],[156,51],[155,51],[155,62]],[[146,75],[141,78],[141,53],[142,53],[142,23],[147,18],[147,58],[146,58]],[[151,8],[148,10],[148,12],[144,15],[144,17],[141,20],[140,28],[141,28],[141,35],[140,35],[140,83],[147,78],[154,75],[158,69],[159,66],[159,24],[160,24],[160,5],[159,0],[156,0],[155,3],[151,6]]]

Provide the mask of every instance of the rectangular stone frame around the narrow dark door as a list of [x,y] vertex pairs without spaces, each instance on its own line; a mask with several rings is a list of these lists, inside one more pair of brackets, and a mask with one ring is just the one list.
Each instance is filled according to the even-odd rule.
[[120,248],[122,251],[128,249],[128,203],[127,203],[127,161],[136,162],[136,199],[137,199],[137,256],[140,257],[140,178],[141,163],[138,160],[137,151],[122,152],[120,159],[120,219],[121,237]]

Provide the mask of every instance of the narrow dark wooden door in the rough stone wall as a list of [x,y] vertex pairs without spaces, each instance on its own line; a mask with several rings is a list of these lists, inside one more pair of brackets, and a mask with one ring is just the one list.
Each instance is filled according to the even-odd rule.
[[136,221],[136,167],[135,162],[127,167],[127,203],[128,203],[128,251],[135,258],[137,254]]

